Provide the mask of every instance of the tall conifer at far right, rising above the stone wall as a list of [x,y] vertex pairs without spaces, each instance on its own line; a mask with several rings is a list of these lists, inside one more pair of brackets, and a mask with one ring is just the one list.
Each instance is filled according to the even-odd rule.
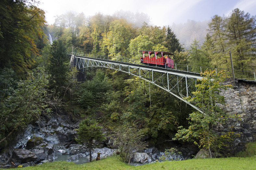
[[[224,33],[229,44],[234,68],[246,70],[256,59],[256,17],[234,9],[227,18]],[[255,65],[250,65],[255,69]]]

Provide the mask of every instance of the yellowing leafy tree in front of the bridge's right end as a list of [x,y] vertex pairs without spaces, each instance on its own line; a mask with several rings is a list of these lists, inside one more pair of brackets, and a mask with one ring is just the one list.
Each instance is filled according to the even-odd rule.
[[194,142],[199,147],[209,150],[212,157],[211,151],[216,147],[214,142],[218,138],[213,128],[216,124],[224,123],[229,117],[219,108],[218,104],[224,103],[224,96],[219,92],[231,85],[221,84],[225,80],[222,72],[216,74],[215,71],[205,71],[203,75],[204,77],[199,80],[201,83],[196,85],[197,91],[192,92],[195,97],[186,98],[189,102],[196,102],[196,106],[202,109],[202,113],[195,111],[189,114],[189,127],[185,129],[180,126],[174,139]]

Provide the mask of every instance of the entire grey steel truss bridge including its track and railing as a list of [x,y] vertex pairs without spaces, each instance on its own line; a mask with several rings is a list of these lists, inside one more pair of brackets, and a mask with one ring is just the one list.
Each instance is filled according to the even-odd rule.
[[[140,60],[130,58],[127,59],[93,54],[79,54],[74,52],[68,52],[67,55],[71,57],[70,65],[75,65],[78,70],[84,71],[84,68],[88,67],[102,67],[134,75],[171,93],[173,96],[186,102],[202,113],[202,110],[195,106],[196,103],[188,102],[184,99],[184,97],[194,97],[192,92],[197,90],[195,86],[197,84],[197,79],[203,78],[198,72],[202,72],[207,68],[193,68],[191,70],[198,70],[198,72],[192,72],[189,71],[188,65],[181,66],[182,64],[179,64],[179,68],[182,69],[177,69],[177,64],[174,66],[175,69],[172,69],[143,65],[140,64]],[[215,69],[217,73],[216,68],[209,69]],[[240,71],[238,71],[238,73],[239,72]],[[226,73],[228,73],[228,71],[226,71]],[[254,80],[249,81],[256,82],[255,72],[246,72],[246,75],[248,74],[250,74],[250,78],[254,77]],[[236,76],[239,77],[239,74],[236,73]],[[245,74],[243,73],[242,76],[245,76]],[[246,79],[237,80],[247,81]]]

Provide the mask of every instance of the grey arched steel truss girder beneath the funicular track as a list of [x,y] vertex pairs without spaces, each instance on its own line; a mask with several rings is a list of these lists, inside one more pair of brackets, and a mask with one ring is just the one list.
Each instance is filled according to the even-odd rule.
[[186,102],[202,113],[202,110],[196,107],[195,103],[188,102],[184,99],[184,97],[188,96],[191,96],[191,98],[194,97],[192,92],[197,90],[195,87],[197,79],[202,79],[202,76],[170,68],[168,69],[82,56],[72,57],[75,58],[75,65],[78,70],[87,67],[102,67],[137,76],[171,93],[173,96]]

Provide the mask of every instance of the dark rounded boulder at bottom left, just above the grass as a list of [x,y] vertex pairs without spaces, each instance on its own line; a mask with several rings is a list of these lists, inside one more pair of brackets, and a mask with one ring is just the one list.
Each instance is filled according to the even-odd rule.
[[12,153],[12,158],[17,162],[23,164],[35,161],[37,159],[37,156],[35,155],[35,153],[32,153],[27,149],[15,149]]

